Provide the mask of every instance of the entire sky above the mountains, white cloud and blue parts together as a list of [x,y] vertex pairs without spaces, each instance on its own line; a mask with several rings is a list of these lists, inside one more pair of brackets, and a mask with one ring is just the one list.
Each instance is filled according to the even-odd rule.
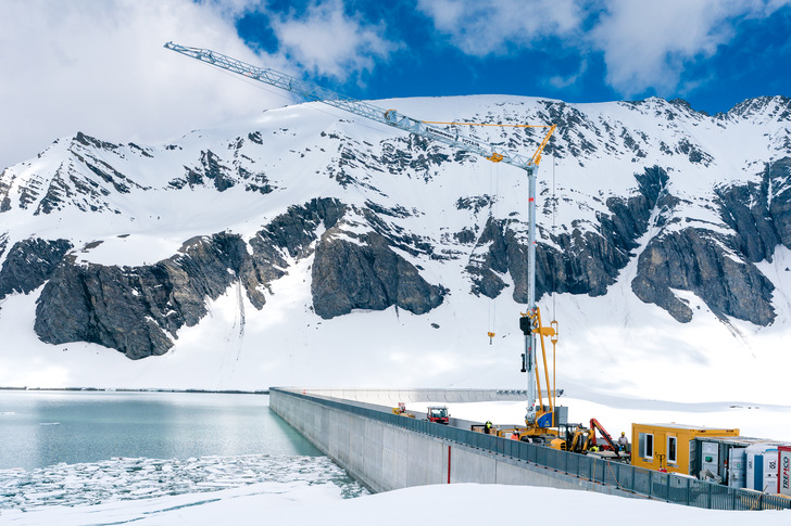
[[357,99],[791,97],[791,0],[0,0],[0,169],[77,131],[158,144],[290,102],[168,40]]

